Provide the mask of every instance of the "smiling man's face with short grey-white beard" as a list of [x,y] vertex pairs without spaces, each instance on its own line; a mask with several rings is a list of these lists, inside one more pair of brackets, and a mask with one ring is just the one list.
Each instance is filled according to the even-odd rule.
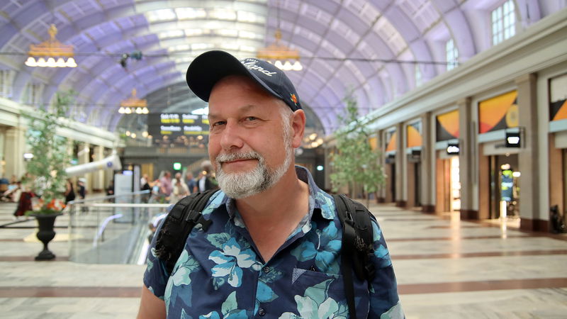
[[293,130],[284,128],[283,107],[246,77],[227,77],[213,88],[208,152],[228,196],[258,194],[287,172],[293,159]]

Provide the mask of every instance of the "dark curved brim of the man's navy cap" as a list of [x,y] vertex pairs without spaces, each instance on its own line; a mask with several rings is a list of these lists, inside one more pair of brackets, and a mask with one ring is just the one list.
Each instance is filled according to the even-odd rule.
[[186,81],[189,89],[203,101],[207,101],[210,91],[220,79],[229,75],[244,75],[260,84],[270,94],[279,99],[282,97],[270,89],[261,79],[249,72],[236,57],[225,51],[208,51],[199,55],[187,69]]

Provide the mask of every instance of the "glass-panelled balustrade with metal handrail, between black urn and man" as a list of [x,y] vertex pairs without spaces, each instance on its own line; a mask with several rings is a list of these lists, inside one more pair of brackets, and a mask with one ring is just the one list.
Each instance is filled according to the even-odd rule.
[[169,203],[150,191],[69,202],[69,260],[87,264],[143,264],[151,225]]

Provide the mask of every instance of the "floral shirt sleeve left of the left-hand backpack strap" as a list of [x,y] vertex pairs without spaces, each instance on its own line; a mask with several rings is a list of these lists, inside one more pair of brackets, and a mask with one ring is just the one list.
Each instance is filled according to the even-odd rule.
[[[162,219],[162,222],[164,219]],[[164,298],[165,286],[167,285],[167,280],[169,279],[169,274],[167,273],[165,263],[155,254],[155,242],[157,239],[157,234],[159,234],[159,230],[162,229],[162,225],[163,223],[160,223],[157,226],[150,248],[148,248],[147,267],[144,273],[145,286],[160,299]]]

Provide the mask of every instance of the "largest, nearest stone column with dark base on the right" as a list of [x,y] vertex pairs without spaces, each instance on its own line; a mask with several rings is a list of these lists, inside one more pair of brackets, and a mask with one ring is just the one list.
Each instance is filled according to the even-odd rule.
[[[537,76],[524,74],[516,79],[520,113],[520,229],[548,231],[547,212],[539,215],[539,152],[537,125]],[[544,218],[542,218],[545,216]]]

